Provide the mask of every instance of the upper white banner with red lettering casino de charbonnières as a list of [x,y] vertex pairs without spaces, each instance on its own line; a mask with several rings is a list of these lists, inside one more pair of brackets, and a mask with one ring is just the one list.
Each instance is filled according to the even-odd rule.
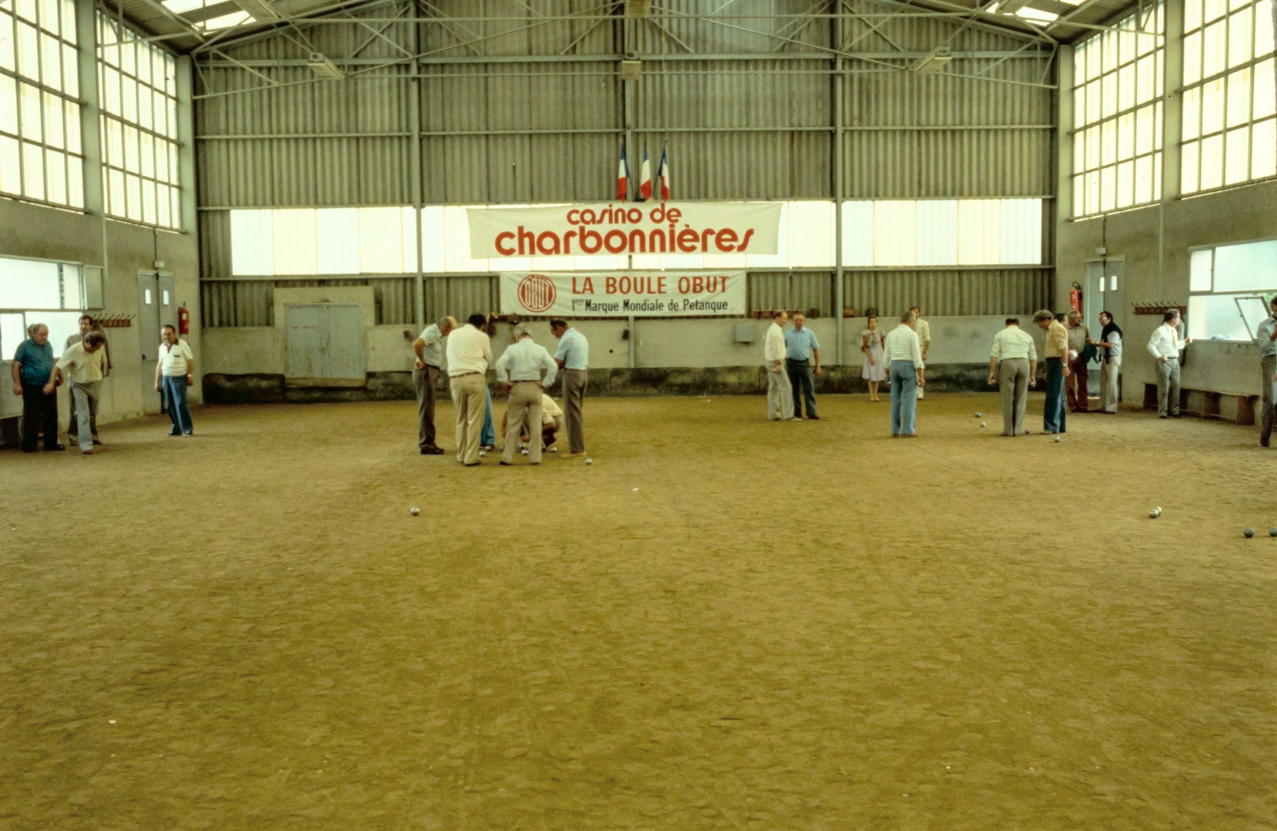
[[775,254],[779,202],[466,208],[470,257]]

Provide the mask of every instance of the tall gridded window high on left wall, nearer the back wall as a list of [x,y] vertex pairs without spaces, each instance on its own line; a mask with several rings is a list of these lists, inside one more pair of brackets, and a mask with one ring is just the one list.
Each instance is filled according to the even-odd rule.
[[180,228],[176,60],[102,13],[97,37],[106,214]]

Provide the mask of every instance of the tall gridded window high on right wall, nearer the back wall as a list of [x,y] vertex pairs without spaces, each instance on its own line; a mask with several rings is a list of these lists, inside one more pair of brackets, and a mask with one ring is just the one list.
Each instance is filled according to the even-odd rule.
[[1073,214],[1162,198],[1163,4],[1078,45],[1073,60]]

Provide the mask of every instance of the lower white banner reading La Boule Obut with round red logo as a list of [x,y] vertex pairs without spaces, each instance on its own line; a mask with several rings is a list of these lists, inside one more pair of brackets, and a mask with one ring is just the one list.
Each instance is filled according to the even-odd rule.
[[744,272],[504,273],[501,311],[550,318],[743,317]]

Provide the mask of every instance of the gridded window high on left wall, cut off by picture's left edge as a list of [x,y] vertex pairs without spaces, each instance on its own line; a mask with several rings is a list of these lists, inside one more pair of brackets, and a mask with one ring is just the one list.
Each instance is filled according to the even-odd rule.
[[75,0],[0,3],[0,193],[84,207]]

